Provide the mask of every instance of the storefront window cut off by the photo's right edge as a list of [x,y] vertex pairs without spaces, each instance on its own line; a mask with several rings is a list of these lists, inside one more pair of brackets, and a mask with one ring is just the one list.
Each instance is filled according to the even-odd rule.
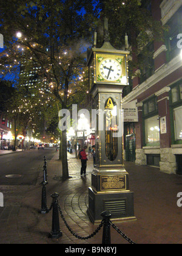
[[182,140],[182,106],[174,108],[175,140]]

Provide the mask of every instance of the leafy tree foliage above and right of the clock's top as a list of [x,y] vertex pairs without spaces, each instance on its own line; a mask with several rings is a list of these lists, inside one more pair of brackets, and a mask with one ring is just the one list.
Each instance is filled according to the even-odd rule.
[[[146,57],[153,58],[153,52],[147,51],[147,44],[164,39],[167,26],[154,20],[150,10],[146,8],[145,0],[103,0],[100,2],[101,16],[109,19],[110,41],[118,49],[124,49],[125,35],[128,35],[130,45],[129,62],[130,77],[135,74],[134,69],[142,69]],[[113,27],[115,29],[113,29]],[[143,51],[143,59],[135,58]]]

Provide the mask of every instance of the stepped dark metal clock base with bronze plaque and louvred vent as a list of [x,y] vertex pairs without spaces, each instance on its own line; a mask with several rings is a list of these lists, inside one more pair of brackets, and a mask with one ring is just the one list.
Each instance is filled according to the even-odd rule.
[[92,172],[87,213],[93,224],[101,222],[101,213],[109,211],[116,221],[136,220],[133,192],[129,190],[128,173],[125,170]]

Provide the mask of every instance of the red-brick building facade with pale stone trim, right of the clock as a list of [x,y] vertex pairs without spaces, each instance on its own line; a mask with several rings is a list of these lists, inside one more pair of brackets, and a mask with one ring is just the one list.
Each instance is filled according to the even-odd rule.
[[138,107],[138,122],[125,123],[125,137],[133,135],[136,164],[182,174],[182,1],[150,4],[155,20],[169,26],[169,32],[164,41],[150,44],[150,68],[136,70],[141,76],[133,78],[123,98],[123,104],[137,100]]

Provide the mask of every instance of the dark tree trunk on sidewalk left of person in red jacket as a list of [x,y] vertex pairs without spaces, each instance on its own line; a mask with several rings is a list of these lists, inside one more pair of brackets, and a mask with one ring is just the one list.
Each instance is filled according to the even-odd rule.
[[62,180],[69,179],[69,169],[67,163],[67,131],[62,131]]

